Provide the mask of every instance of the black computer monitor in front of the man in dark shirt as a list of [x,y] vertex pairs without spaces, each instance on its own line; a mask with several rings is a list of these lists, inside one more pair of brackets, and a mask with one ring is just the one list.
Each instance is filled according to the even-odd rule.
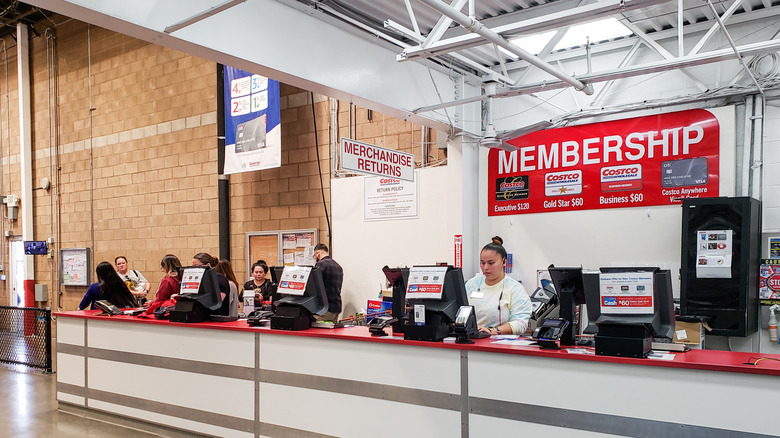
[[316,315],[328,311],[328,296],[322,271],[311,266],[285,266],[279,277],[276,292],[276,311],[271,317],[271,328],[279,330],[305,330]]

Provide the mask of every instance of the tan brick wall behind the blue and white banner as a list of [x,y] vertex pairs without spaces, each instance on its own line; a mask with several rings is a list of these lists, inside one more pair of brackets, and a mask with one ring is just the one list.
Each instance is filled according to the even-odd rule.
[[[90,247],[94,215],[93,266],[125,255],[130,268],[144,273],[156,290],[162,276],[159,261],[166,253],[178,255],[185,264],[197,252],[219,254],[217,66],[105,29],[91,27],[89,34],[91,59],[86,24],[70,21],[56,31],[52,79],[57,92],[56,126],[47,104],[46,40],[39,37],[31,42],[33,184],[38,186],[43,177],[56,181],[50,161],[55,144],[50,140],[52,132],[61,168],[60,207],[54,214],[60,235],[52,236],[51,231],[55,190],[36,190],[34,238],[54,237],[55,254],[60,248]],[[10,106],[5,103],[4,77],[0,78],[3,194],[21,194],[16,57],[12,51],[8,55]],[[0,75],[4,76],[3,70]],[[282,166],[230,176],[231,254],[239,279],[246,276],[247,232],[315,228],[320,240],[327,241],[309,93],[283,84],[281,95]],[[331,102],[323,96],[315,96],[315,101],[320,165],[330,209]],[[94,108],[91,121],[90,107]],[[338,129],[345,137],[348,108],[348,103],[339,102]],[[356,111],[355,125],[356,140],[414,153],[420,162],[419,126],[376,112],[369,121],[362,108]],[[444,157],[442,151],[431,150],[430,159]],[[3,221],[6,229],[21,235],[20,221]],[[7,239],[3,244],[7,254]],[[51,281],[55,267],[54,261],[36,256],[36,282],[56,288]],[[61,290],[63,308],[72,310],[86,288]],[[8,303],[8,285],[0,293],[2,303]]]

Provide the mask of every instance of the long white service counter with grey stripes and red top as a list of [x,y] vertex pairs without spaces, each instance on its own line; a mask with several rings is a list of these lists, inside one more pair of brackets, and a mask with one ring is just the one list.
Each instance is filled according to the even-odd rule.
[[[57,316],[63,411],[163,436],[777,436],[780,355],[672,360],[281,331],[95,311]],[[747,363],[755,363],[748,365]]]

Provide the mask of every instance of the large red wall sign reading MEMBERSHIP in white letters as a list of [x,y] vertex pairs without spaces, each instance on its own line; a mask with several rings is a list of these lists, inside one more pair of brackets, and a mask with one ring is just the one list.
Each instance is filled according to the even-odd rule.
[[488,154],[488,216],[716,197],[720,128],[688,110],[533,132]]

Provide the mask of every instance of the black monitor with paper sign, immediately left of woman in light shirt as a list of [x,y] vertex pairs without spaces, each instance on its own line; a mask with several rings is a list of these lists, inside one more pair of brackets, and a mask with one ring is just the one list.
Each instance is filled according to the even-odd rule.
[[[440,278],[443,276],[444,279]],[[404,339],[440,341],[450,333],[461,306],[468,306],[463,270],[452,266],[414,266],[409,270],[406,301],[410,307],[425,306],[425,324],[411,315]]]

